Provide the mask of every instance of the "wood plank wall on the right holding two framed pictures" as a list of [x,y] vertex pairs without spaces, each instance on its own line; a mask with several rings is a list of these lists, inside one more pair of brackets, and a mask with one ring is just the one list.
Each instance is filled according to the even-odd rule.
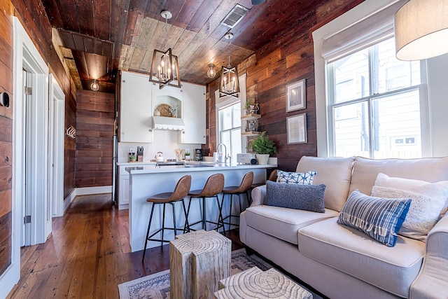
[[[295,26],[279,34],[271,43],[238,65],[246,73],[247,98],[255,98],[262,117],[259,131],[276,142],[279,169],[295,171],[302,155],[317,155],[316,95],[314,90],[314,48],[311,32],[349,11],[363,0],[330,0],[297,20]],[[307,108],[286,113],[286,85],[306,79]],[[219,78],[208,86],[207,130],[209,142],[204,149],[216,151],[216,99]],[[286,118],[307,113],[307,144],[287,144]]]

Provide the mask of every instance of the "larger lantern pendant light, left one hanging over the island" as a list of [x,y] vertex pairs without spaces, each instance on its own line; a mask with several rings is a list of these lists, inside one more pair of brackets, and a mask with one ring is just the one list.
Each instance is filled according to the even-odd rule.
[[171,19],[173,15],[169,11],[162,11],[160,15],[165,18],[165,47],[163,51],[154,49],[149,81],[159,83],[160,89],[167,85],[181,88],[177,56],[172,54],[172,48],[167,50],[168,19]]

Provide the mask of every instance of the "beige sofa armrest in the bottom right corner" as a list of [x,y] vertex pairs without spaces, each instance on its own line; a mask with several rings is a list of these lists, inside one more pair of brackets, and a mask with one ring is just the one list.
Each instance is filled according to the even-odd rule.
[[409,298],[447,298],[448,214],[438,221],[426,238],[426,254]]

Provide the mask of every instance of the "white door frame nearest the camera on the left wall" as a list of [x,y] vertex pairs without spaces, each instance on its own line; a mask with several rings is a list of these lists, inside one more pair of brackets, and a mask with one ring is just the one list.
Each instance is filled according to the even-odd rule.
[[14,58],[13,58],[13,211],[11,233],[11,264],[0,276],[0,298],[6,297],[20,279],[20,242],[23,225],[22,200],[24,197],[24,130],[22,69],[24,60],[36,71],[34,98],[36,109],[34,130],[36,132],[36,154],[34,155],[34,181],[36,192],[31,200],[31,242],[43,243],[48,236],[45,230],[46,197],[48,185],[48,66],[38,53],[36,46],[29,38],[17,17],[13,17],[14,26]]

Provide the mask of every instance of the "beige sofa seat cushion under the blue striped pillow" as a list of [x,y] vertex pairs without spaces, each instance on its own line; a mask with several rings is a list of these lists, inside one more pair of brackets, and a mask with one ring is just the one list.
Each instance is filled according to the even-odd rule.
[[419,274],[425,243],[398,236],[395,246],[387,247],[330,218],[300,228],[298,248],[324,265],[407,298]]

